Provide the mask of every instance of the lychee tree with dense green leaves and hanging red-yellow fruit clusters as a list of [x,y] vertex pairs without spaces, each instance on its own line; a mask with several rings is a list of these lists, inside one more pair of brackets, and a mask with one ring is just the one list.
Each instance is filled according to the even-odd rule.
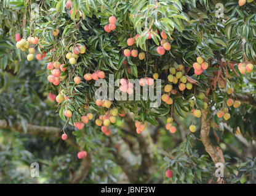
[[[81,146],[78,158],[90,154],[93,138],[101,132],[105,137],[122,135],[116,122],[124,120],[145,155],[142,173],[125,165],[118,153],[114,157],[131,182],[147,182],[154,169],[149,166],[154,162],[152,138],[146,129],[149,124],[159,126],[164,121],[163,126],[175,135],[175,116],[191,115],[188,138],[200,135],[215,164],[225,159],[220,146],[210,140],[210,132],[217,141],[222,127],[232,127],[249,140],[255,138],[255,122],[246,117],[255,114],[256,105],[256,3],[222,1],[223,17],[215,15],[217,3],[62,0],[38,2],[35,8],[30,1],[10,1],[2,12],[12,20],[2,22],[16,39],[12,55],[23,53],[28,61],[43,60],[38,75],[57,101],[60,118],[65,126],[79,130],[73,132]],[[6,70],[7,64],[12,69],[14,64],[8,62],[12,59],[6,58],[10,53],[3,54],[1,69]],[[152,101],[143,99],[95,99],[95,82],[102,78],[108,83],[109,74],[121,79],[120,86],[110,88],[127,94],[134,92],[131,79],[154,88],[161,79],[161,106],[150,107]],[[65,126],[63,140],[68,138]],[[111,139],[108,145],[113,145]],[[165,160],[168,167],[178,170],[173,156]],[[172,176],[172,171],[166,172]]]

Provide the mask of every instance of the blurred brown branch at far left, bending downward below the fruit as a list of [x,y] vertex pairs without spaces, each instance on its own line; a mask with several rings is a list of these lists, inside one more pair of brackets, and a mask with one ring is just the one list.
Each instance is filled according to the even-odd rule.
[[[22,134],[29,134],[29,135],[35,135],[35,136],[41,136],[41,137],[60,138],[60,134],[61,134],[60,129],[57,127],[36,126],[33,124],[27,124],[26,128],[27,130],[25,131],[23,129],[22,123],[20,123],[19,121],[15,121],[13,126],[9,126],[9,124],[5,119],[0,119],[0,129],[11,129],[11,130],[14,130],[15,132],[19,132]],[[72,140],[71,138],[68,138],[66,142],[71,146],[73,146],[74,148],[80,150],[80,146],[78,145],[78,143],[76,143],[76,141]],[[84,178],[86,178],[86,175],[91,165],[92,165],[92,157],[90,153],[87,153],[87,157],[81,160],[81,164],[78,170],[75,171],[73,176],[71,176],[70,182],[82,183]]]

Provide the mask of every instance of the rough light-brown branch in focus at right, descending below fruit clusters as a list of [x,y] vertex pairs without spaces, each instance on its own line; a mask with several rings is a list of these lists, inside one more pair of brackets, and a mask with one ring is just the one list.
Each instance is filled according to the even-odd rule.
[[201,123],[201,133],[200,137],[202,140],[202,144],[206,148],[206,152],[210,155],[214,163],[220,162],[220,157],[218,156],[218,152],[214,145],[212,144],[212,141],[210,140],[209,134],[210,134],[210,118],[207,119],[207,116],[209,115],[209,110],[201,110],[202,113],[202,123]]

